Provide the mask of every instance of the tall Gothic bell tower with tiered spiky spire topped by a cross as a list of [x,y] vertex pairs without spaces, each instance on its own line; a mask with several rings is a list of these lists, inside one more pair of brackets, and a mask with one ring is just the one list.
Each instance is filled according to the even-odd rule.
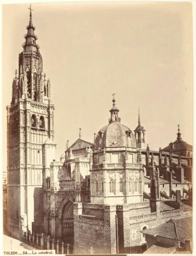
[[[19,71],[7,106],[8,232],[41,232],[43,215],[42,169],[44,142],[54,140],[54,105],[50,80],[36,43],[30,6],[29,25],[19,54]],[[54,143],[53,143],[54,144]],[[44,155],[44,154],[43,154]],[[54,157],[54,156],[52,156]],[[52,161],[52,159],[51,159]]]

